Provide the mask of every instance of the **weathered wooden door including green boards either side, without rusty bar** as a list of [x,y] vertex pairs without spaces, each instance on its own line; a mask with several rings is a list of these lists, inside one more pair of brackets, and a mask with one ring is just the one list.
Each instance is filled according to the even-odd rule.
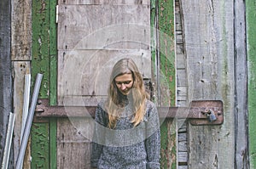
[[[146,82],[155,82],[156,88],[161,89],[156,95],[165,95],[161,99],[155,97],[158,105],[175,104],[173,1],[157,4],[148,0],[46,0],[34,1],[32,5],[32,74],[44,74],[39,99],[64,107],[96,105],[106,97],[113,64],[118,59],[131,57]],[[156,36],[159,31],[154,26],[160,27],[162,37]],[[160,72],[160,79],[156,78],[156,72]],[[72,113],[68,117],[49,116],[43,121],[34,121],[32,167],[90,167],[93,119],[76,119]],[[163,121],[163,168],[177,164],[176,132],[171,132],[170,127],[173,127],[172,120]]]

